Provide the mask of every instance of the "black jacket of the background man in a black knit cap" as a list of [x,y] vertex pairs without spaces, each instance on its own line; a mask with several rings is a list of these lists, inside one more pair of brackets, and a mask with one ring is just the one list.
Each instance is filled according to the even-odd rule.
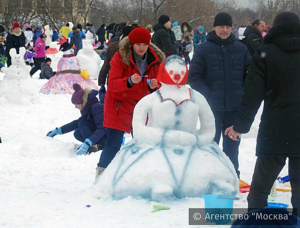
[[151,43],[164,52],[166,57],[171,54],[178,54],[180,45],[171,41],[170,32],[164,25],[160,23],[154,25],[153,31]]

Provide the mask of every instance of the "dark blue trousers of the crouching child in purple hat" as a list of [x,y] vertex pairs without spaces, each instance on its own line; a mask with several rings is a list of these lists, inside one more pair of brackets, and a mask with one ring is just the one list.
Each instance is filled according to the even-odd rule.
[[[96,126],[86,120],[82,120],[78,123],[78,128],[74,131],[74,137],[80,141],[84,142],[87,138],[91,136],[91,134],[96,130]],[[98,142],[95,144],[105,144],[107,140],[107,135],[104,135]]]

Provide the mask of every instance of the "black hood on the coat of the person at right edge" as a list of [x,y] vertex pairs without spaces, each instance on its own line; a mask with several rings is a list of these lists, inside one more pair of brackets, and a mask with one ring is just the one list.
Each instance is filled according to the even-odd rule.
[[282,50],[300,50],[300,23],[272,27],[264,39],[264,44],[269,43],[276,44]]

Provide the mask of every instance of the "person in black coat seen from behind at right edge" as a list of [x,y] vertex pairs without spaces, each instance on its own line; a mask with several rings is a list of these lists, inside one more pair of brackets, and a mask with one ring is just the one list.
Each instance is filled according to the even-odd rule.
[[252,60],[239,115],[227,133],[238,140],[249,131],[264,101],[248,208],[267,206],[271,187],[289,158],[291,202],[300,212],[300,19],[279,13]]

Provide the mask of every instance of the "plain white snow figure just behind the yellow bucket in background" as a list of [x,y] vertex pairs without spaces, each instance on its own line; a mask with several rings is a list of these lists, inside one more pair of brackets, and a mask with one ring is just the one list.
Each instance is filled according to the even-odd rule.
[[80,67],[82,69],[87,69],[90,73],[90,78],[98,78],[99,72],[100,72],[100,64],[101,64],[101,58],[96,53],[96,51],[93,50],[92,45],[90,44],[90,41],[83,40],[83,47],[81,50],[77,53],[77,58],[80,63]]

